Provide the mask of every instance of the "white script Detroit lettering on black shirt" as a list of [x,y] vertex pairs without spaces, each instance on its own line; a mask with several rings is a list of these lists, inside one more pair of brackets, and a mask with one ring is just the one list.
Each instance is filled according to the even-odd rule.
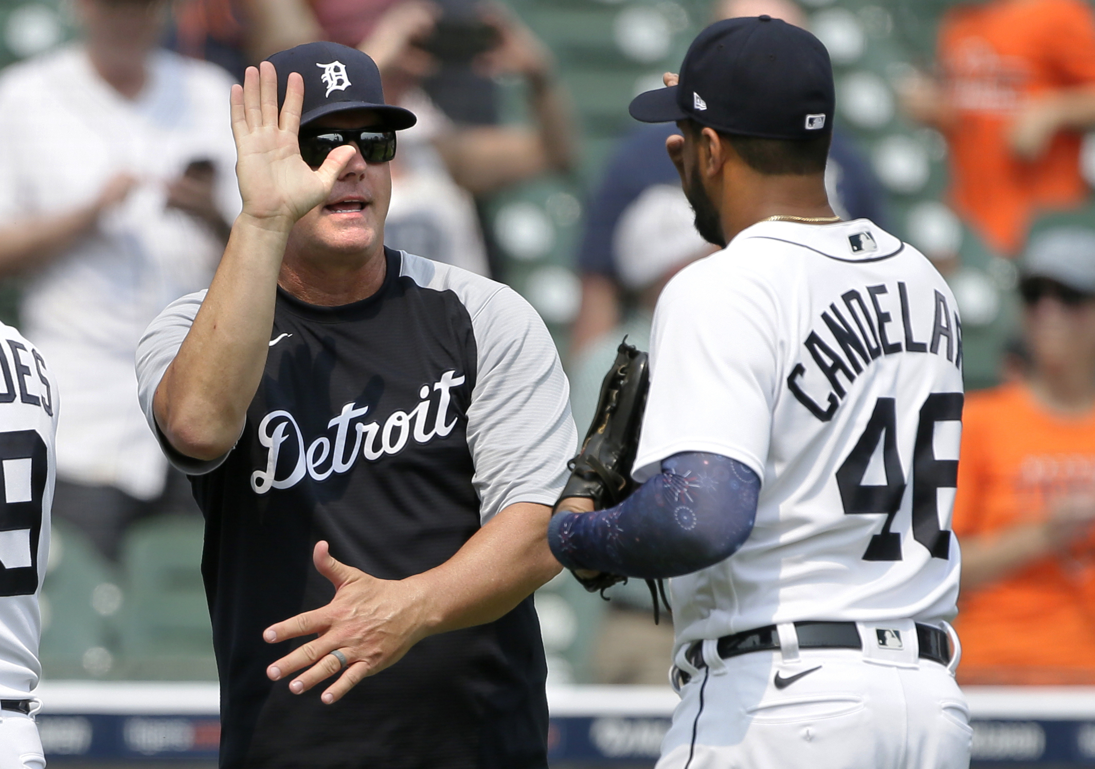
[[[272,411],[258,423],[258,443],[266,448],[266,468],[251,473],[251,489],[256,494],[265,494],[270,489],[289,489],[304,475],[314,481],[325,481],[331,473],[348,471],[361,457],[372,462],[385,455],[399,454],[412,437],[419,444],[445,437],[457,425],[456,418],[451,422],[448,418],[451,391],[463,383],[464,377],[457,376],[456,370],[446,371],[433,387],[422,386],[418,391],[420,401],[414,409],[392,412],[383,426],[378,421],[355,422],[369,413],[369,406],[346,403],[342,412],[327,423],[327,429],[334,431],[334,437],[321,435],[309,443],[307,449],[296,417],[284,409]],[[435,392],[436,409],[430,418]],[[351,424],[354,448],[347,454]],[[290,460],[279,463],[286,441],[296,449],[296,461],[292,461],[290,452]]]

